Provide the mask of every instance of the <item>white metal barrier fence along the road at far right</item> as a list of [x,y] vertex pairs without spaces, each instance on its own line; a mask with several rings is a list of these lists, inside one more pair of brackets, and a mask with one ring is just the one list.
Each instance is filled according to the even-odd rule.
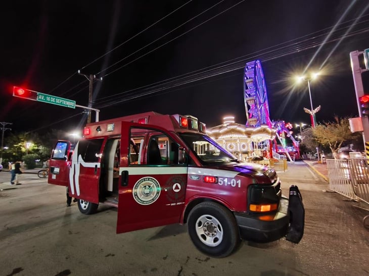
[[366,158],[327,159],[330,188],[369,204],[369,165]]

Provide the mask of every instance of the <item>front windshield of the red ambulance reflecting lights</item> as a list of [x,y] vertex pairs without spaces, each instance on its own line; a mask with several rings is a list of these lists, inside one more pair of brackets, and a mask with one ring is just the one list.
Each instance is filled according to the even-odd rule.
[[237,158],[218,145],[209,136],[198,133],[180,133],[183,141],[206,163],[236,162]]

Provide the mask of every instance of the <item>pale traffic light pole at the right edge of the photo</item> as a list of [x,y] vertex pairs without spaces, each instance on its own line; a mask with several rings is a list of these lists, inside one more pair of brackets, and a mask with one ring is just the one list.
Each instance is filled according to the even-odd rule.
[[359,98],[365,94],[364,87],[362,85],[361,73],[367,71],[366,69],[360,68],[359,54],[363,53],[364,53],[363,51],[358,50],[350,52],[350,60],[351,60],[352,77],[355,86],[357,108],[359,111],[359,117],[361,118],[363,128],[362,139],[364,141],[365,155],[366,158],[369,159],[369,118],[367,116],[362,116],[359,102]]

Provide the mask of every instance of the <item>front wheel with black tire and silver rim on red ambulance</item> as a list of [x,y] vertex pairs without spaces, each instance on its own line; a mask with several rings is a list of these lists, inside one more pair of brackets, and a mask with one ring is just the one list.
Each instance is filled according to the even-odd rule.
[[232,254],[241,242],[234,215],[224,206],[210,201],[191,210],[188,232],[197,249],[214,258]]

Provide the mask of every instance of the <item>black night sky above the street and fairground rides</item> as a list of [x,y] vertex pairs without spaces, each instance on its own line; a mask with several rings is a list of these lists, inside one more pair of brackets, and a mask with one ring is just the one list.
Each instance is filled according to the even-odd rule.
[[[100,120],[155,111],[193,115],[207,127],[226,115],[244,124],[243,67],[257,59],[271,120],[310,123],[303,111],[310,108],[307,83],[294,85],[293,77],[320,68],[311,82],[313,105],[321,105],[316,120],[357,117],[349,53],[369,48],[368,4],[7,1],[0,11],[0,121],[18,132],[81,130],[83,108],[12,96],[13,86],[20,86],[86,106],[88,81],[77,74],[81,70],[103,77],[94,83]],[[367,87],[369,76],[362,76]]]

